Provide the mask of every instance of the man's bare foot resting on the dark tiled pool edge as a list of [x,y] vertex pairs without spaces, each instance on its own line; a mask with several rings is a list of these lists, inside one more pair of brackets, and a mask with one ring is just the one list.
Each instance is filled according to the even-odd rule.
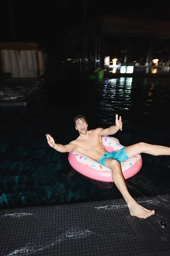
[[144,208],[142,205],[138,204],[135,200],[131,201],[128,204],[130,215],[131,216],[136,216],[138,218],[148,218],[151,215],[155,214],[154,210],[148,210]]

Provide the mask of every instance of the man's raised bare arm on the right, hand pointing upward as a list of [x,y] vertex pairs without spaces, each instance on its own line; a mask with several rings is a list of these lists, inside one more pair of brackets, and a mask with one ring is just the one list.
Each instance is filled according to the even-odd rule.
[[116,134],[117,131],[121,130],[122,131],[122,118],[116,114],[116,125],[112,125],[109,128],[103,129],[103,128],[98,128],[99,130],[99,135],[100,136],[109,136]]

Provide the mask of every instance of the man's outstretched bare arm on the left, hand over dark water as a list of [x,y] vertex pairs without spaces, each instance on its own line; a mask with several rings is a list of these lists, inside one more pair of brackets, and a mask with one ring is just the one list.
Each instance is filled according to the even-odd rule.
[[76,149],[76,145],[72,142],[70,142],[67,145],[62,145],[62,144],[55,143],[53,137],[51,137],[49,134],[46,134],[46,138],[47,138],[48,145],[50,145],[51,148],[54,148],[55,150],[61,153],[71,152],[72,150]]

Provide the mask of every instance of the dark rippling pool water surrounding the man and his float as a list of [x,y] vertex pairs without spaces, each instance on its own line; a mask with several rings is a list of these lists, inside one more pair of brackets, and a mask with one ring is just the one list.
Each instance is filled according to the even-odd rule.
[[[68,81],[60,81],[60,88],[65,83]],[[80,175],[69,165],[67,153],[48,146],[46,133],[62,144],[78,136],[72,119],[79,113],[88,116],[89,129],[107,128],[115,123],[116,113],[121,115],[123,131],[114,137],[122,145],[143,141],[170,147],[170,79],[122,77],[78,81],[77,86],[79,96],[69,101],[59,90],[59,104],[54,104],[53,92],[46,84],[27,108],[1,109],[1,208],[122,198],[113,183]],[[130,194],[170,193],[170,156],[142,154],[142,158],[140,172],[126,181]]]

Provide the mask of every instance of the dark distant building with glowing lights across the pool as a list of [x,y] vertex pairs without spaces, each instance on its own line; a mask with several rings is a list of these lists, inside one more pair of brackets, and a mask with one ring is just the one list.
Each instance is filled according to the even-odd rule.
[[111,73],[169,72],[169,28],[170,22],[136,17],[86,20],[65,32],[66,66],[81,73],[97,67]]

